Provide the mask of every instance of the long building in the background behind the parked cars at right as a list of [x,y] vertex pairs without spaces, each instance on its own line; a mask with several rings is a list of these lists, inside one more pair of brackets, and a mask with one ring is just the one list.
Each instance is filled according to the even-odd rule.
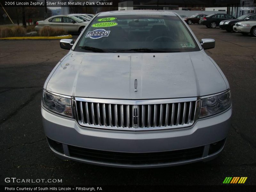
[[[134,0],[118,3],[118,10],[159,9],[181,13],[189,12],[226,12],[234,17],[256,12],[256,0]],[[184,13],[185,14],[185,13]]]

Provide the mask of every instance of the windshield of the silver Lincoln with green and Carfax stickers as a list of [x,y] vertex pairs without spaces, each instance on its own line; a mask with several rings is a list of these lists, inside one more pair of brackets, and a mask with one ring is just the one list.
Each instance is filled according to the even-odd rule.
[[[92,49],[94,48],[94,49]],[[80,37],[80,52],[199,51],[195,39],[178,16],[118,15],[96,17]]]

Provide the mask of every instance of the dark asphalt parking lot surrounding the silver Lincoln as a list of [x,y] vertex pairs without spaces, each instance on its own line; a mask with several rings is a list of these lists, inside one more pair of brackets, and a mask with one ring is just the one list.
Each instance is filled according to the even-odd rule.
[[[121,169],[54,156],[41,122],[42,87],[68,52],[59,40],[0,41],[0,185],[4,178],[62,179],[63,185],[221,185],[225,177],[256,184],[256,38],[190,25],[197,38],[214,38],[206,51],[228,78],[232,126],[220,156],[210,162],[155,169]],[[77,36],[74,36],[77,38]],[[46,184],[49,183],[38,183]]]

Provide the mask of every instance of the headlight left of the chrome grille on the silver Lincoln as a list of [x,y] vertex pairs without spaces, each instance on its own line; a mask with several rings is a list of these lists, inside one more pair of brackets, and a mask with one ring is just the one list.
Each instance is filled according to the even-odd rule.
[[67,97],[53,94],[43,90],[42,103],[44,108],[55,113],[73,117],[71,108],[71,99]]

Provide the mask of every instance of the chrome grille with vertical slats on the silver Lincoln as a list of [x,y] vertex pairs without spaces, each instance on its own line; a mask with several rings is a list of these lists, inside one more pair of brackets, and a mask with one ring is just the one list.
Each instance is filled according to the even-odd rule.
[[170,100],[107,100],[73,98],[82,126],[118,130],[159,130],[191,126],[199,98]]

